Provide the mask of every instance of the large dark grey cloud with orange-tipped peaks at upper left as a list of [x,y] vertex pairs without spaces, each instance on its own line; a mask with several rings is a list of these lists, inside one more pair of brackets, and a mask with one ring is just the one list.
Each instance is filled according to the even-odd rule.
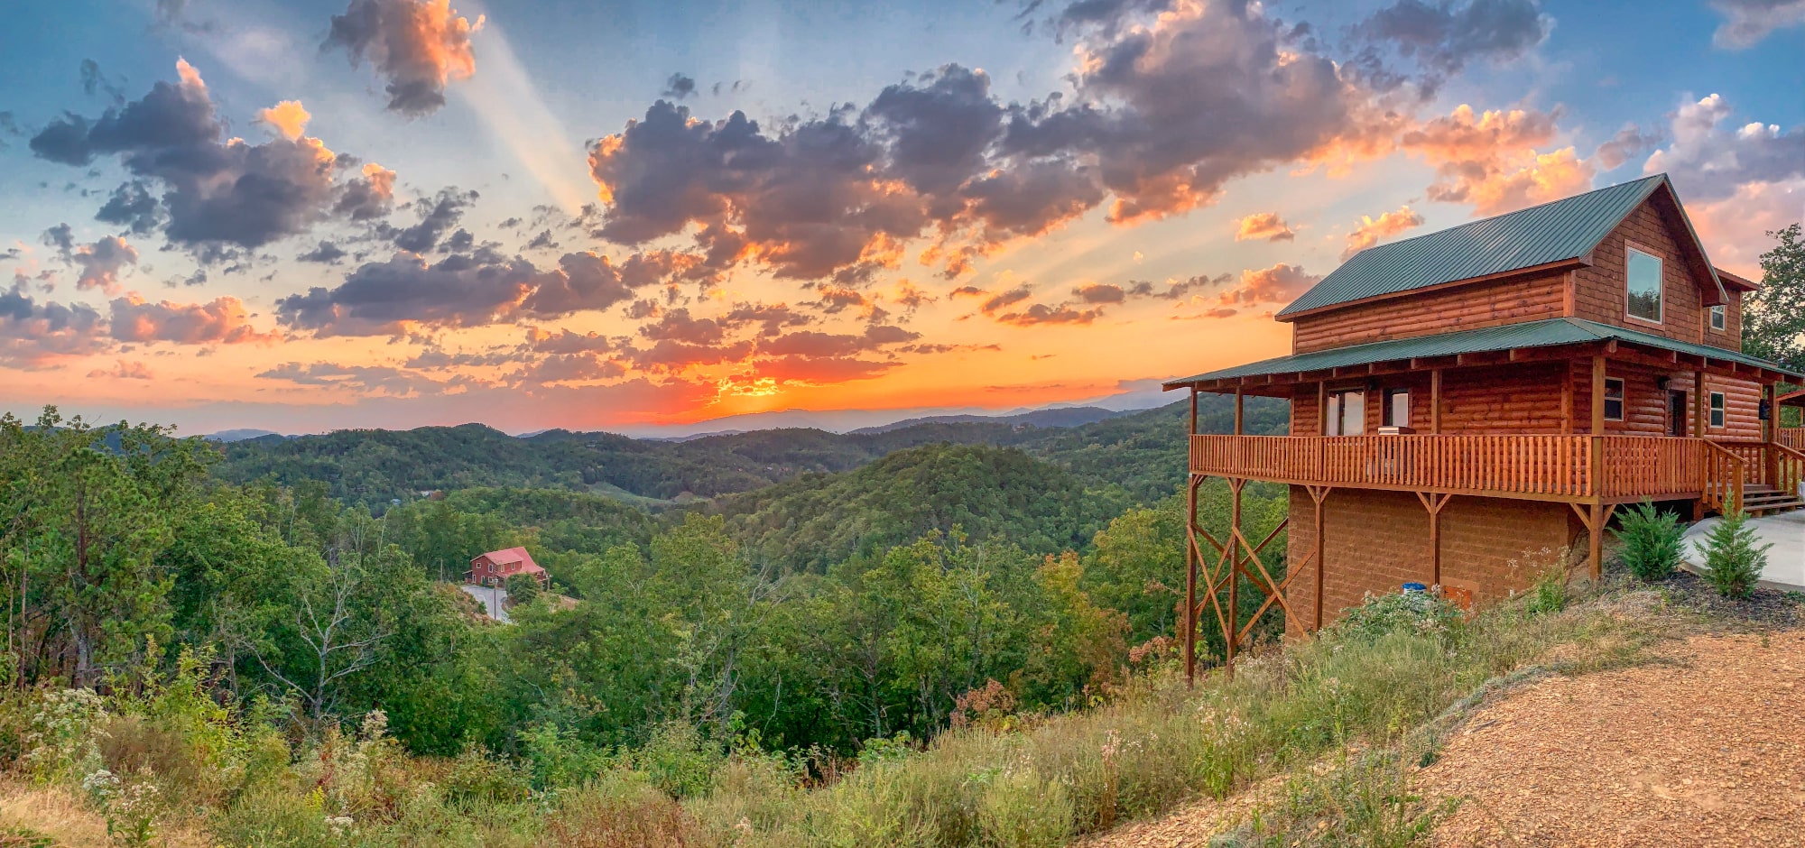
[[[298,135],[298,105],[267,110],[274,139],[227,139],[200,74],[182,60],[175,69],[177,83],[157,81],[143,99],[97,119],[65,114],[51,121],[32,135],[32,153],[70,166],[117,155],[134,179],[99,218],[139,233],[162,226],[171,244],[204,260],[303,233],[327,217],[339,193],[339,162],[319,139]],[[162,189],[155,202],[152,186]]]

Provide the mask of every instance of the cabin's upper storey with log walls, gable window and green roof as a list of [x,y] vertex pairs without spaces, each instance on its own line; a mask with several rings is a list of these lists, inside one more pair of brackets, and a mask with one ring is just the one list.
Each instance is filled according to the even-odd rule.
[[1742,350],[1742,294],[1666,175],[1361,251],[1278,314],[1292,352],[1579,318]]

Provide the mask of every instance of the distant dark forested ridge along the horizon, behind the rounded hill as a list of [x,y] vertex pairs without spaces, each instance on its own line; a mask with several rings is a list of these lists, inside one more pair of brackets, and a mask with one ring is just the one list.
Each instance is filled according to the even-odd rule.
[[[1233,399],[1202,395],[1199,428],[1233,426]],[[1247,399],[1249,433],[1282,433],[1285,406]],[[1159,498],[1184,473],[1184,402],[1074,428],[1011,422],[922,422],[881,433],[764,429],[664,442],[552,429],[514,438],[480,424],[341,429],[319,437],[262,437],[224,446],[213,473],[247,484],[321,482],[329,494],[377,509],[422,491],[477,485],[561,487],[653,500],[715,498],[805,473],[848,471],[924,444],[1013,446],[1067,465],[1092,485],[1117,484],[1137,500]]]

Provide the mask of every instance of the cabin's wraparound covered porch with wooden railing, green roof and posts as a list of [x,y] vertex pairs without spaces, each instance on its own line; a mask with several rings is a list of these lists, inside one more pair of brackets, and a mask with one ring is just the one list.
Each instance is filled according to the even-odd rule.
[[[1634,390],[1632,379],[1641,381]],[[1805,480],[1805,453],[1780,442],[1778,417],[1756,411],[1776,410],[1776,384],[1789,379],[1800,377],[1735,350],[1563,318],[1170,381],[1166,390],[1191,393],[1186,594],[1193,621],[1215,608],[1233,659],[1251,628],[1251,621],[1233,621],[1236,586],[1247,585],[1265,595],[1262,612],[1278,606],[1285,613],[1287,628],[1319,628],[1325,503],[1343,489],[1415,494],[1428,516],[1430,563],[1413,579],[1428,585],[1442,583],[1442,514],[1455,498],[1565,503],[1585,527],[1592,577],[1603,570],[1605,527],[1623,503],[1689,500],[1700,518],[1742,503],[1791,507]],[[1233,433],[1197,431],[1204,392],[1235,395]],[[1657,392],[1659,402],[1641,397]],[[1291,399],[1294,435],[1245,435],[1247,395]],[[1211,476],[1229,482],[1236,514],[1247,482],[1309,494],[1301,503],[1294,496],[1291,514],[1300,529],[1309,523],[1314,539],[1291,539],[1291,570],[1269,568],[1262,554],[1271,536],[1247,539],[1238,520],[1227,538],[1199,527],[1197,487]],[[1314,608],[1294,608],[1287,597],[1294,581]],[[1227,604],[1217,597],[1222,592]],[[1195,668],[1189,655],[1188,668]]]

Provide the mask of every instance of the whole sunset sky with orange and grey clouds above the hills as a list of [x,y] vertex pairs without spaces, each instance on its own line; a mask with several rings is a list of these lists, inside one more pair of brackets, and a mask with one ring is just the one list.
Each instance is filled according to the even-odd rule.
[[1014,410],[1278,355],[1365,245],[1666,171],[1758,276],[1805,0],[65,0],[0,408],[182,433]]

